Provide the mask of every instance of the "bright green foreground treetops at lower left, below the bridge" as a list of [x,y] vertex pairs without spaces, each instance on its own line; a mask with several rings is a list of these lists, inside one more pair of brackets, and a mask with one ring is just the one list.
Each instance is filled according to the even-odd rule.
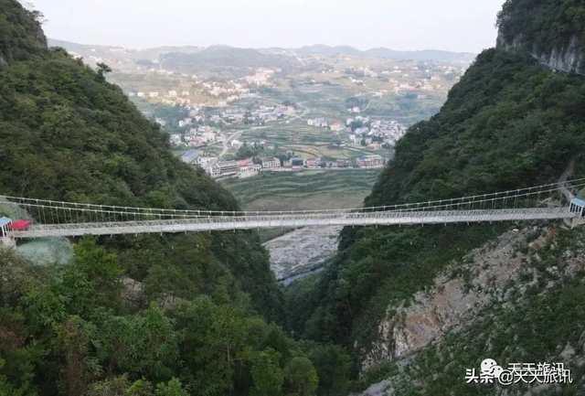
[[343,350],[296,344],[215,295],[129,310],[119,258],[89,238],[42,271],[3,252],[0,273],[2,394],[311,396],[348,384]]

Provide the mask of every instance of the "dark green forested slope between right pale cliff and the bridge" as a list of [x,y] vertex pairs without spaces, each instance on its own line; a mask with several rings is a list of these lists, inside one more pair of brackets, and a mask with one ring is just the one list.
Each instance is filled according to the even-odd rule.
[[410,128],[367,205],[460,197],[556,181],[585,147],[583,78],[490,49],[441,113]]

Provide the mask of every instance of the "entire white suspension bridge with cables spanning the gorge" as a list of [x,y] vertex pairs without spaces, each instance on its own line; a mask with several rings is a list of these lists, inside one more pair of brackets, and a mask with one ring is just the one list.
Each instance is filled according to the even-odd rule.
[[492,194],[358,209],[220,211],[156,209],[0,197],[26,213],[11,239],[139,233],[203,232],[322,226],[391,226],[567,219],[580,223],[585,202],[570,200],[585,178]]

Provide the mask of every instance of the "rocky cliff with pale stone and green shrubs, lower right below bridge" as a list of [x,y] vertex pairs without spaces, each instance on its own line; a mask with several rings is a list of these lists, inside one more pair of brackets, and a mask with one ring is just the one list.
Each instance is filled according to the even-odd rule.
[[[511,230],[441,273],[409,304],[388,307],[366,365],[384,378],[363,396],[438,394],[565,395],[582,390],[585,368],[583,230]],[[460,273],[459,275],[453,275]],[[396,312],[396,315],[390,315]],[[572,384],[467,384],[482,359],[563,362]],[[380,375],[381,373],[381,375]]]

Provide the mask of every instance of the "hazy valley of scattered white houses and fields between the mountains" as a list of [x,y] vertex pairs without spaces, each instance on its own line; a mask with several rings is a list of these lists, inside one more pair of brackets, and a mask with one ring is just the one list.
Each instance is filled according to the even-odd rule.
[[466,69],[457,62],[283,50],[284,57],[300,62],[293,70],[242,66],[208,72],[180,70],[162,57],[130,61],[124,57],[134,57],[132,52],[98,52],[91,50],[86,59],[116,66],[112,80],[169,134],[176,155],[211,177],[384,166],[416,114],[429,112]]

